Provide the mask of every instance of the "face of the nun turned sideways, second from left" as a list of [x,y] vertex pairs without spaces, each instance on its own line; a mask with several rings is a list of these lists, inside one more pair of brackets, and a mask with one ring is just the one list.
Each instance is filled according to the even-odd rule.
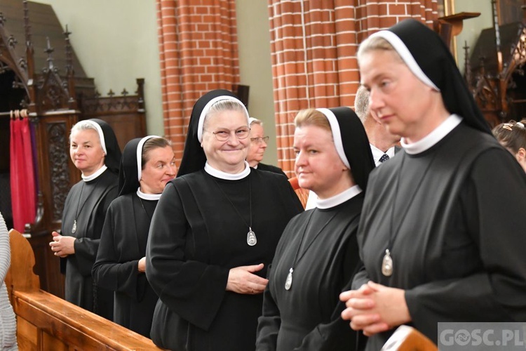
[[175,154],[171,147],[156,147],[147,153],[142,167],[140,187],[144,194],[161,194],[166,183],[175,178]]

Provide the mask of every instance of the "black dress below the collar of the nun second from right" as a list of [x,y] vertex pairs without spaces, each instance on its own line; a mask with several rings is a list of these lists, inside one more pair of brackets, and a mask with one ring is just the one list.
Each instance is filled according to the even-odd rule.
[[[290,220],[269,272],[257,350],[351,350],[356,331],[338,296],[359,267],[356,231],[363,193]],[[285,279],[294,267],[292,286]]]

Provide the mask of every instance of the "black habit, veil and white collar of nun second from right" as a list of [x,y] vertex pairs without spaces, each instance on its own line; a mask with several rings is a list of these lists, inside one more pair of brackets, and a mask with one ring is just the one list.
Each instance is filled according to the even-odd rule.
[[292,218],[285,228],[264,291],[258,351],[352,350],[357,342],[357,333],[341,317],[345,305],[339,293],[349,288],[361,265],[356,232],[375,163],[353,110],[318,111],[327,118],[335,150],[356,185],[319,200],[317,208]]

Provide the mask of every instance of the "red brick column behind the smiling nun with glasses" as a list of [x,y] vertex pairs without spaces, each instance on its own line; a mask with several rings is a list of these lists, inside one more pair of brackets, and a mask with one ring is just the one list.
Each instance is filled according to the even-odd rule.
[[164,131],[180,161],[194,102],[239,84],[236,9],[231,0],[156,0]]

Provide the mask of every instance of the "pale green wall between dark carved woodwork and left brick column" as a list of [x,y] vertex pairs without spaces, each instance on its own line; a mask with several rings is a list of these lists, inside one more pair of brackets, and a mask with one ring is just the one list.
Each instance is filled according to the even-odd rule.
[[[72,35],[74,51],[97,90],[137,90],[144,78],[147,130],[163,135],[161,73],[154,0],[32,0],[50,4]],[[31,15],[31,14],[29,14]]]

